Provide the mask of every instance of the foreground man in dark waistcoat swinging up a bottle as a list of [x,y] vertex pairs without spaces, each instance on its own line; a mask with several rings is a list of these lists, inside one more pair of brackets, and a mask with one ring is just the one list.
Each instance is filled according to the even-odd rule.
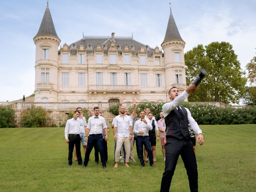
[[198,192],[196,156],[190,140],[188,126],[198,135],[196,141],[200,145],[204,144],[204,137],[190,111],[180,106],[188,97],[188,94],[195,90],[196,86],[190,84],[180,94],[178,88],[172,87],[168,93],[171,102],[164,104],[162,107],[166,124],[166,161],[160,192],[170,190],[172,176],[179,156],[181,156],[188,174],[190,192]]

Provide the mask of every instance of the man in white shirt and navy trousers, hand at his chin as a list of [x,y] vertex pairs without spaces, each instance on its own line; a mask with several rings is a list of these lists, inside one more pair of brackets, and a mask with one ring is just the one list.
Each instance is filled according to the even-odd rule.
[[138,143],[137,150],[139,151],[139,159],[142,167],[145,166],[143,160],[143,145],[148,152],[150,166],[154,166],[153,155],[150,147],[150,140],[148,136],[148,130],[152,130],[152,124],[145,118],[145,111],[140,112],[140,120],[134,124],[133,132],[137,134],[136,142]]

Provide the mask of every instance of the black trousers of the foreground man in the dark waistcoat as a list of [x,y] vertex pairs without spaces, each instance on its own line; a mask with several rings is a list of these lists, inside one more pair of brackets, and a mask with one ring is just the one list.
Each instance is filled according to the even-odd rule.
[[192,142],[190,139],[180,140],[175,137],[166,138],[165,168],[160,192],[169,192],[179,156],[181,156],[187,171],[190,192],[198,192],[198,172]]

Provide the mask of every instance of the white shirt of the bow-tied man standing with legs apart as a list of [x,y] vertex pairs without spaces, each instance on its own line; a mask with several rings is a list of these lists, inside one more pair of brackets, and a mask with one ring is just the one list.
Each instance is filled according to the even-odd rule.
[[91,116],[88,119],[87,129],[90,130],[89,134],[102,134],[102,129],[108,128],[104,117],[102,116]]

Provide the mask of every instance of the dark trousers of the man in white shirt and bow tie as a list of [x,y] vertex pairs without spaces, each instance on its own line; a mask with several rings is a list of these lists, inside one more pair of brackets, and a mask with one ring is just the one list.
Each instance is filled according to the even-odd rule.
[[92,134],[89,135],[88,137],[88,142],[87,142],[87,148],[86,148],[86,153],[84,156],[84,165],[87,166],[90,153],[92,151],[93,146],[96,145],[99,152],[100,152],[100,159],[102,166],[106,166],[106,163],[104,161],[104,149],[103,149],[103,140],[102,140],[102,134]]

